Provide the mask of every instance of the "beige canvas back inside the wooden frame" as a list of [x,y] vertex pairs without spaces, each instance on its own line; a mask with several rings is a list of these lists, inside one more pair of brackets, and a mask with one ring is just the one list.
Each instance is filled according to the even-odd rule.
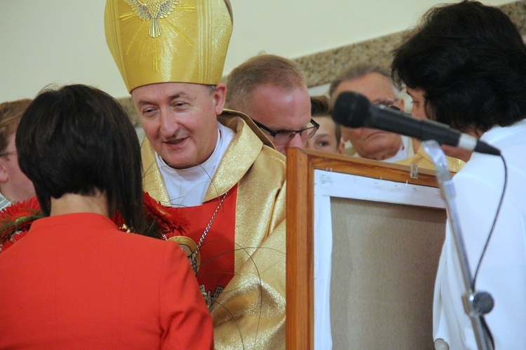
[[333,349],[433,349],[445,210],[331,198]]

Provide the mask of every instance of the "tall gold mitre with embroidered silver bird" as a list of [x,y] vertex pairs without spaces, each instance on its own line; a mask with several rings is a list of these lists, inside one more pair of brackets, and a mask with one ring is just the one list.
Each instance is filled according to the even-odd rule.
[[107,0],[104,28],[126,88],[220,83],[232,33],[229,0]]

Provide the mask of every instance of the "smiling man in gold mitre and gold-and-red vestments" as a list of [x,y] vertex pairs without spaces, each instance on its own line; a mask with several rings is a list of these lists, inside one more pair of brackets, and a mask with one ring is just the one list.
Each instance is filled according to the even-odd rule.
[[162,238],[188,255],[215,347],[283,349],[285,157],[223,109],[229,1],[192,4],[107,0],[107,43],[146,135],[144,190],[189,220],[184,236]]

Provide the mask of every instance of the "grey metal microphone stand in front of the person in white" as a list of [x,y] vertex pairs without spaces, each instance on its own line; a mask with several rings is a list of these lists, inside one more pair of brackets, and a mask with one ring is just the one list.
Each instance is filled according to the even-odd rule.
[[471,278],[471,270],[469,269],[466,248],[464,247],[464,239],[461,234],[459,215],[454,201],[455,191],[451,180],[451,173],[447,167],[447,159],[445,158],[445,154],[440,148],[440,145],[435,140],[423,141],[422,147],[424,147],[425,151],[429,154],[435,164],[438,186],[440,187],[440,193],[445,201],[447,217],[451,224],[452,236],[454,243],[457,246],[462,278],[466,288],[466,292],[462,295],[464,311],[466,311],[466,314],[471,319],[471,325],[473,325],[478,349],[493,350],[490,335],[483,327],[483,316],[493,309],[493,298],[487,292],[476,292],[473,290],[473,278]]

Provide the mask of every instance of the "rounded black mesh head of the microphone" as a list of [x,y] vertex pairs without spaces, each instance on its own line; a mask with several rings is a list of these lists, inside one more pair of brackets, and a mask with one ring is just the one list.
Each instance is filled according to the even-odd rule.
[[363,128],[371,112],[371,102],[359,93],[345,91],[340,93],[332,109],[332,119],[348,128]]

